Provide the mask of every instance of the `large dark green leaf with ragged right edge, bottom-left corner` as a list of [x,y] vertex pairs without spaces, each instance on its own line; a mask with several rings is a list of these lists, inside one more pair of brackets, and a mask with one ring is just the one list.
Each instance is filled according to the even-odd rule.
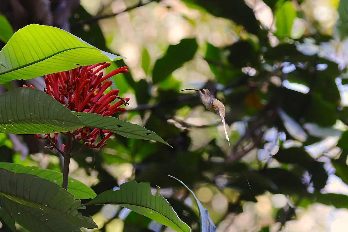
[[80,200],[38,176],[0,168],[0,205],[30,231],[80,231],[97,228],[92,217],[78,213]]

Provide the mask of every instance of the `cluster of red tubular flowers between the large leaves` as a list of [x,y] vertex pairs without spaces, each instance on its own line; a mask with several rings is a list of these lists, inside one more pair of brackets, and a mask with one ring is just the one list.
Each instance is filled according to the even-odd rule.
[[[126,111],[125,108],[119,106],[128,104],[129,98],[118,97],[119,89],[111,90],[107,94],[104,94],[104,92],[112,84],[112,81],[107,81],[107,79],[118,73],[129,72],[128,67],[120,67],[103,77],[103,72],[100,71],[108,66],[110,66],[110,63],[100,63],[78,67],[70,71],[48,74],[45,77],[45,92],[71,111],[97,113],[102,116],[111,116],[116,112]],[[120,101],[111,105],[115,99],[120,99]],[[106,145],[104,143],[106,139],[113,135],[108,130],[96,128],[90,131],[90,128],[87,127],[70,131],[69,133],[73,134],[74,140],[82,140],[82,145],[85,148],[102,148]],[[105,134],[107,135],[105,136]],[[102,140],[95,145],[93,143],[96,141],[98,135],[101,136]],[[37,135],[37,137],[44,139],[40,135]],[[48,135],[45,135],[45,139],[52,145],[46,148],[58,149],[57,138],[57,133],[55,135],[55,141],[52,141]],[[65,145],[62,145],[61,150],[58,149],[61,153],[64,150]]]

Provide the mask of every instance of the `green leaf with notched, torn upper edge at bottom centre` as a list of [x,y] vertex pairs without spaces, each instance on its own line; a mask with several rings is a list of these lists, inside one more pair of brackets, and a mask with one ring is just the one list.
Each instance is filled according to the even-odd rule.
[[120,185],[120,189],[108,190],[97,195],[93,200],[83,204],[103,205],[113,204],[133,210],[168,226],[176,231],[190,231],[190,227],[177,217],[172,206],[159,194],[152,195],[150,183],[136,183],[130,181]]

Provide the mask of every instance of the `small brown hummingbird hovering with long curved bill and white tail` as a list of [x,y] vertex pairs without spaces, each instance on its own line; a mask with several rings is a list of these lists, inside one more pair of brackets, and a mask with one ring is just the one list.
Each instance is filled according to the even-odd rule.
[[231,146],[230,138],[228,137],[226,126],[225,126],[225,111],[226,111],[226,108],[222,104],[222,102],[217,100],[214,97],[214,95],[212,93],[210,93],[210,91],[208,89],[183,89],[183,90],[180,90],[180,92],[181,91],[185,91],[185,90],[195,90],[195,91],[198,91],[200,99],[201,99],[202,103],[207,107],[207,110],[212,111],[212,112],[220,115],[221,120],[222,120],[222,124],[223,124],[223,128],[225,129],[225,136],[226,136],[226,139],[228,141],[228,145]]

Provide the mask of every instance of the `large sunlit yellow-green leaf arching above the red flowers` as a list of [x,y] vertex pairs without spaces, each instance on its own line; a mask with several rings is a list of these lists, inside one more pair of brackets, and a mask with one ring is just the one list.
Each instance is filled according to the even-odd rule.
[[31,24],[19,29],[0,51],[5,66],[0,66],[0,84],[121,58],[62,29]]

